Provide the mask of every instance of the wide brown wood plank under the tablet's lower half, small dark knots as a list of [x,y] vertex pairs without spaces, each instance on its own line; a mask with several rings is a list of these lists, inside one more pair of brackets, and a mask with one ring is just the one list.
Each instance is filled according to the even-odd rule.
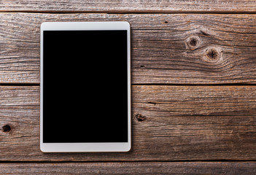
[[132,94],[130,152],[42,153],[39,87],[0,86],[0,160],[256,159],[255,86],[133,85]]

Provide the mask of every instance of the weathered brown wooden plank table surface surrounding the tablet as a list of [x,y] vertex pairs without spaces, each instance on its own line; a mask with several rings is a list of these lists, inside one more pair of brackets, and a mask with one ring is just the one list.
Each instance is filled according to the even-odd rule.
[[[238,0],[0,1],[0,174],[256,174],[255,10]],[[42,153],[40,23],[109,20],[131,23],[131,151]]]

